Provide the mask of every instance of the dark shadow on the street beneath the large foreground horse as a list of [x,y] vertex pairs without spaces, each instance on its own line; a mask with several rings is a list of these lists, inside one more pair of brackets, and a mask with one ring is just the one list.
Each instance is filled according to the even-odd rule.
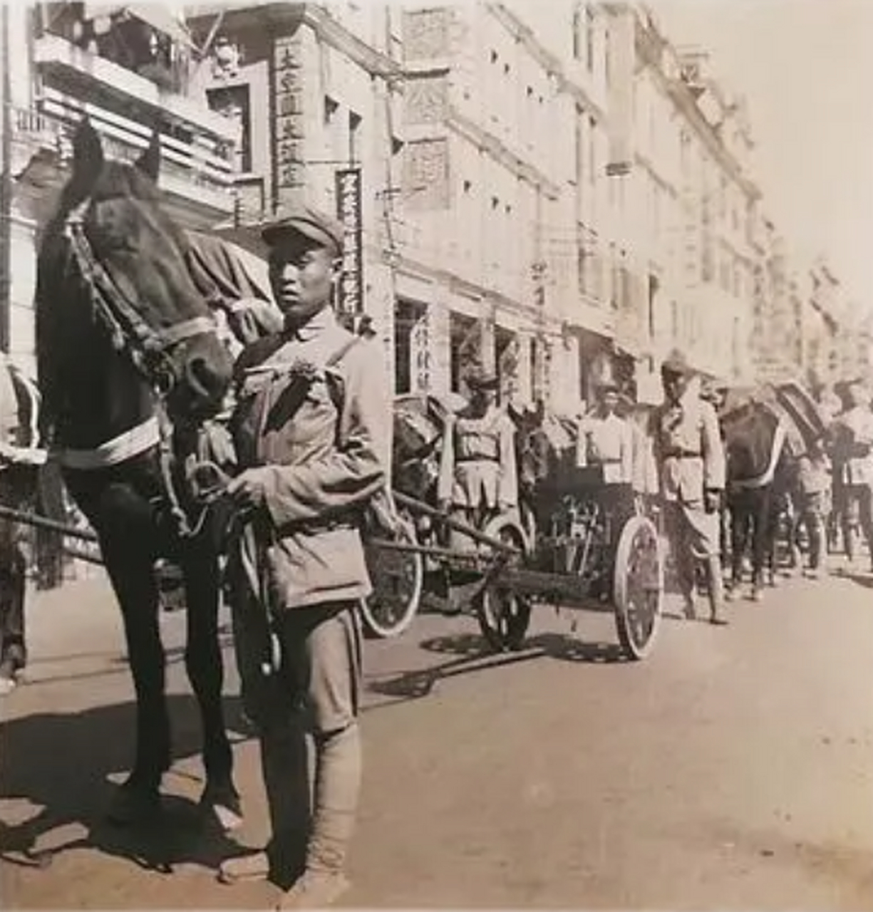
[[[168,702],[177,762],[201,751],[200,717],[192,696],[171,695]],[[238,700],[225,698],[225,707],[234,726]],[[47,868],[57,855],[88,847],[170,874],[173,865],[216,867],[238,854],[212,814],[201,814],[194,801],[178,795],[163,796],[163,814],[150,827],[106,820],[113,788],[108,777],[129,769],[135,713],[135,704],[126,702],[4,723],[0,799],[36,805],[37,813],[17,824],[0,818],[0,860]]]

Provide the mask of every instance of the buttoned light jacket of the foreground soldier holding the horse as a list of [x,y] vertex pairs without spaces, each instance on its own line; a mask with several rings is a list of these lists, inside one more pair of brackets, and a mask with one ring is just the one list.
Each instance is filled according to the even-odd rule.
[[359,527],[389,478],[390,396],[374,343],[325,367],[351,338],[328,307],[239,371],[234,440],[241,468],[268,470],[255,531],[280,610],[371,592]]

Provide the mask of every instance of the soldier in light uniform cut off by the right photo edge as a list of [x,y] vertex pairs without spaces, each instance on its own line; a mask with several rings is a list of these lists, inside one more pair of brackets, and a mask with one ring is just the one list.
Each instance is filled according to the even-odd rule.
[[834,505],[840,515],[849,565],[855,561],[855,528],[860,525],[873,560],[873,412],[859,378],[847,384],[847,409],[831,425]]

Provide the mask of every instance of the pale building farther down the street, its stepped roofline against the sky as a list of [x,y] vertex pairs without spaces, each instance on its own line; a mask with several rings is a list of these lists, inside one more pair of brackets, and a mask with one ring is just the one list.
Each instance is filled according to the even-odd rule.
[[711,78],[705,55],[672,46],[644,5],[608,8],[618,35],[633,42],[632,151],[616,219],[630,251],[634,300],[624,328],[640,395],[660,396],[658,363],[674,346],[703,373],[746,382],[761,194],[749,175],[743,103]]

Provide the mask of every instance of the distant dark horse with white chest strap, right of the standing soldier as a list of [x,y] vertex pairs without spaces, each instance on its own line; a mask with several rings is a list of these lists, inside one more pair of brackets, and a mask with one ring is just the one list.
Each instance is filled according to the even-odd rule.
[[727,455],[732,588],[741,579],[743,556],[751,545],[752,597],[757,599],[765,567],[774,582],[780,520],[794,499],[798,457],[820,439],[825,426],[812,400],[792,383],[729,391],[720,420]]

